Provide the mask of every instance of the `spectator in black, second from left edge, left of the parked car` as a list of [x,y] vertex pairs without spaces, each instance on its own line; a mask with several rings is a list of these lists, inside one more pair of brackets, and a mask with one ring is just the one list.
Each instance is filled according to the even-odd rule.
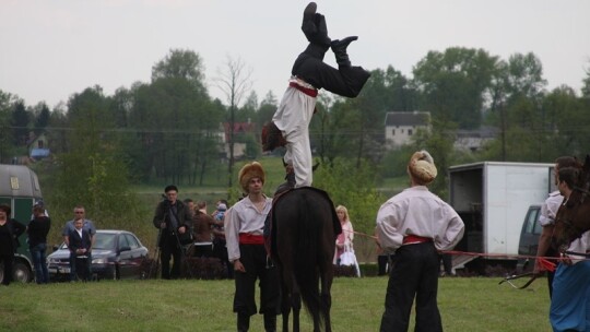
[[37,284],[49,283],[49,272],[47,271],[47,234],[51,228],[51,220],[45,215],[43,205],[33,206],[34,218],[28,223],[26,233],[28,234],[28,250],[35,265],[35,277]]

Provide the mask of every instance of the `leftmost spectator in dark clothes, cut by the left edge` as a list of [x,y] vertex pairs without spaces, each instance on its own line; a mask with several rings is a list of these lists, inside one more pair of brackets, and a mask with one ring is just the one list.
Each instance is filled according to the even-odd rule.
[[0,261],[4,265],[2,285],[8,286],[12,282],[12,264],[14,253],[20,247],[19,236],[26,227],[16,220],[10,217],[11,209],[7,204],[0,205]]

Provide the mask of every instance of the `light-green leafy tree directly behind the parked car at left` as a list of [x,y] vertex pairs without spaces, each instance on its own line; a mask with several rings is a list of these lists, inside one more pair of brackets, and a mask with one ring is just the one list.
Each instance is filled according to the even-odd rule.
[[108,109],[109,99],[99,86],[70,97],[70,144],[58,156],[59,170],[49,186],[56,206],[83,204],[98,221],[129,217],[138,204]]

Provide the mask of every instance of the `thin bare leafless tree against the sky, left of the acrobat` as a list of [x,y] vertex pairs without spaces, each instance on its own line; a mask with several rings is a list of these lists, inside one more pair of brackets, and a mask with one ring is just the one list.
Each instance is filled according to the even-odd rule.
[[241,98],[248,93],[252,86],[250,80],[251,70],[246,68],[246,64],[240,58],[233,59],[227,57],[225,62],[225,71],[219,71],[216,79],[217,87],[225,94],[227,103],[229,103],[229,119],[228,119],[228,147],[229,162],[227,163],[227,188],[232,188],[234,179],[234,128],[236,123],[236,110],[241,102]]

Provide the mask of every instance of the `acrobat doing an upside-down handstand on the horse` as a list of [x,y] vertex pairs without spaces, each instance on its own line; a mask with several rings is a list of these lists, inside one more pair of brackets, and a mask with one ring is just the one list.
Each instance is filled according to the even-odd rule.
[[[262,131],[263,151],[286,145],[284,162],[292,166],[287,167],[287,183],[295,187],[311,186],[308,128],[316,109],[318,90],[324,88],[340,96],[354,98],[370,76],[362,67],[351,64],[346,51],[349,44],[358,37],[332,40],[328,36],[326,17],[316,10],[315,2],[309,2],[304,10],[302,31],[309,45],[295,60],[288,86],[272,122]],[[335,56],[338,69],[323,62],[323,56],[329,48]]]

